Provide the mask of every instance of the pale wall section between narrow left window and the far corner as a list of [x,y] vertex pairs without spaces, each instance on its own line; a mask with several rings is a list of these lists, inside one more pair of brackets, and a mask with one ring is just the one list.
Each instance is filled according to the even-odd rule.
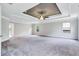
[[14,35],[30,35],[31,34],[31,24],[14,24]]

